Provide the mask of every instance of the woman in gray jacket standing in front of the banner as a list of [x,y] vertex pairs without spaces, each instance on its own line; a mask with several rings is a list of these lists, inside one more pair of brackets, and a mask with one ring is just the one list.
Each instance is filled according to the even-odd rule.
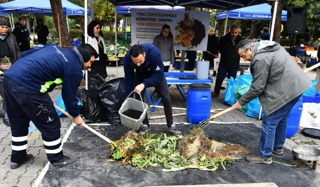
[[173,35],[169,25],[162,26],[160,34],[154,36],[152,44],[161,52],[163,72],[168,72],[169,67],[174,64]]

